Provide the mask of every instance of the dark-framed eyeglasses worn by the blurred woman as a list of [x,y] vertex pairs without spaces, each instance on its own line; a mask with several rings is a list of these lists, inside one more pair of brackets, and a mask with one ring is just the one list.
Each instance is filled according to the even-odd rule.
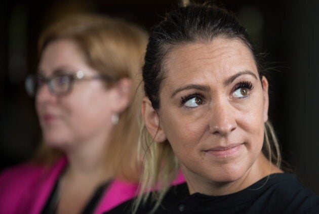
[[49,90],[52,94],[63,96],[70,93],[75,81],[93,79],[110,80],[110,78],[102,75],[86,77],[82,70],[73,74],[56,75],[51,78],[45,78],[40,75],[30,75],[25,79],[25,89],[29,96],[34,97],[38,89],[41,88],[43,84],[48,83]]

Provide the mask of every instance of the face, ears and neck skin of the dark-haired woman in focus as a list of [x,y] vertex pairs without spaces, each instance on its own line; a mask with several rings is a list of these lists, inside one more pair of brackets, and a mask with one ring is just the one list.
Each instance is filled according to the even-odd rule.
[[268,82],[240,40],[175,48],[164,71],[160,108],[145,97],[142,112],[155,141],[171,144],[190,193],[230,194],[282,172],[261,152]]

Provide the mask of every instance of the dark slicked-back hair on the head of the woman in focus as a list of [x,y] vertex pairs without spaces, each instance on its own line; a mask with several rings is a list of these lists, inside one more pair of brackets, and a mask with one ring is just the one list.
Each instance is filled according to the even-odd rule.
[[234,14],[214,5],[191,4],[167,15],[149,37],[143,67],[145,95],[154,109],[160,108],[161,84],[165,78],[163,64],[168,53],[193,42],[210,42],[216,37],[240,39],[252,52],[259,76],[263,71],[246,29]]

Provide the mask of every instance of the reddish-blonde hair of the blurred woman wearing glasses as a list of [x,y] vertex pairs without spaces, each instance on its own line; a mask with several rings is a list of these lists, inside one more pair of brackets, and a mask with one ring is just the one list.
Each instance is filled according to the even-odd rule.
[[[131,105],[121,113],[106,151],[108,164],[116,175],[125,180],[138,181],[136,160],[138,141],[138,114],[140,94],[137,85],[141,81],[141,67],[147,45],[147,33],[136,25],[121,19],[99,15],[74,15],[49,27],[39,38],[39,55],[50,42],[71,39],[85,54],[87,63],[98,72],[116,82],[121,78],[133,80]],[[51,164],[63,153],[39,147],[34,160]]]

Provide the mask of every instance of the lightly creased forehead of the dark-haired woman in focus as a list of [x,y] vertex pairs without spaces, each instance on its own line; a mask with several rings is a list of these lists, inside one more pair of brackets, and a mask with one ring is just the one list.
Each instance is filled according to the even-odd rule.
[[173,49],[165,59],[164,81],[182,84],[214,80],[218,83],[241,71],[252,71],[258,76],[249,48],[238,39],[216,38],[212,42],[192,43]]

